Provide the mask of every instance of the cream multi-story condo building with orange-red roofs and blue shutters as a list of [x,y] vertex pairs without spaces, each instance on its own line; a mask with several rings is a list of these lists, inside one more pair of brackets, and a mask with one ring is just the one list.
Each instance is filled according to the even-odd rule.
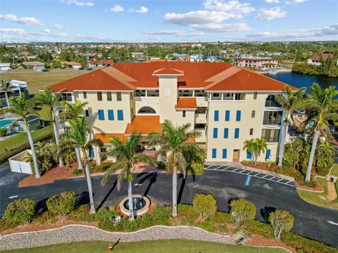
[[[284,112],[275,100],[287,84],[228,63],[118,63],[51,86],[63,100],[88,102],[85,117],[94,138],[144,136],[161,131],[165,119],[190,123],[201,137],[207,162],[247,160],[244,141],[263,138],[259,160],[276,160]],[[292,90],[296,88],[290,86]],[[64,126],[67,128],[67,126]],[[93,155],[99,162],[99,148]]]

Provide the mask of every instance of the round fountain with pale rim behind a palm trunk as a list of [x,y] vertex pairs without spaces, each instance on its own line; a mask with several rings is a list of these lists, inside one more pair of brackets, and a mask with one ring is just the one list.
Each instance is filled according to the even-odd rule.
[[[132,195],[132,207],[134,209],[135,216],[139,216],[148,212],[151,202],[149,197],[142,195]],[[125,197],[120,202],[121,212],[125,215],[129,215],[129,200]]]

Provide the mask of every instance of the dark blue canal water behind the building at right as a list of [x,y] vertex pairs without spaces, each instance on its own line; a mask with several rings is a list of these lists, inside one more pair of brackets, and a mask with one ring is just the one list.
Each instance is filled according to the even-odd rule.
[[[338,78],[333,77],[323,77],[318,75],[311,74],[299,74],[294,72],[284,72],[278,74],[266,74],[268,77],[277,79],[280,82],[290,84],[297,88],[301,87],[310,87],[314,82],[318,83],[323,89],[327,88],[330,85],[336,86],[338,89]],[[306,89],[309,92],[308,89]]]

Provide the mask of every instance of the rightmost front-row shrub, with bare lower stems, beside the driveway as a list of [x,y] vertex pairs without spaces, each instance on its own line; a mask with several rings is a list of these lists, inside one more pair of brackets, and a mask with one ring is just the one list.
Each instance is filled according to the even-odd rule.
[[269,221],[276,240],[280,240],[280,234],[283,231],[290,231],[294,226],[294,216],[285,210],[276,210],[270,213]]

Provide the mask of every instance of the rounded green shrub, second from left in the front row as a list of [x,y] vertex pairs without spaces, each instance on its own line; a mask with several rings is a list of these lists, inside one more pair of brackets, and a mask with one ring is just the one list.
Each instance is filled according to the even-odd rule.
[[75,209],[77,197],[74,192],[63,192],[60,195],[53,195],[47,200],[47,208],[53,214],[66,215]]

